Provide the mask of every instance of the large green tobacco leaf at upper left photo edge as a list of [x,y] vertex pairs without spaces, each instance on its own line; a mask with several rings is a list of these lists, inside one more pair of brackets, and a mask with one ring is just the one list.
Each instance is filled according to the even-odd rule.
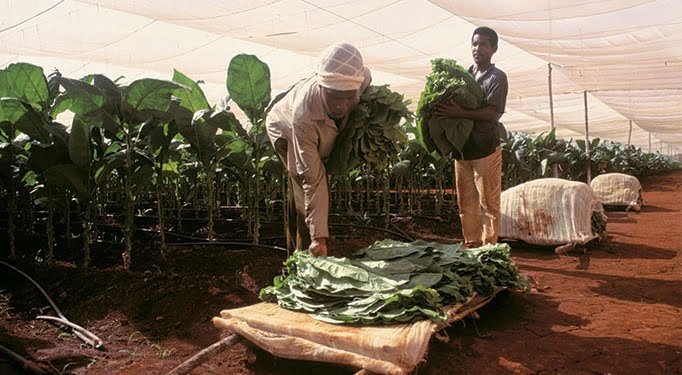
[[36,108],[45,109],[50,94],[43,68],[15,63],[0,70],[0,97],[19,98]]

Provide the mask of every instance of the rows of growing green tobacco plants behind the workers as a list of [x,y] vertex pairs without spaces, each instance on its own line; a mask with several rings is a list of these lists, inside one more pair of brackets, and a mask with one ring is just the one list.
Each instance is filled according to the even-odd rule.
[[[234,57],[218,103],[208,102],[198,82],[177,70],[170,80],[129,84],[100,74],[46,76],[29,63],[0,70],[0,237],[7,256],[36,258],[18,251],[17,238],[40,238],[39,260],[51,265],[57,243],[71,248],[77,241],[78,263],[87,268],[93,247],[107,239],[120,246],[130,269],[136,235],[158,235],[165,256],[167,235],[183,233],[188,214],[205,221],[205,240],[230,239],[233,234],[215,231],[226,207],[239,212],[244,240],[261,242],[261,225],[285,216],[287,181],[264,129],[272,100],[269,68],[252,55]],[[359,143],[358,154],[374,162],[354,163],[331,177],[331,207],[342,215],[440,215],[454,183],[452,160],[427,151],[403,111],[409,102],[383,90],[371,100],[380,96],[383,107],[401,111],[402,134],[384,127],[391,147]],[[505,187],[549,176],[553,164],[561,177],[583,181],[588,164],[593,174],[636,176],[679,168],[661,154],[599,139],[587,160],[583,141],[553,132],[505,133],[502,142]],[[141,217],[153,223],[141,224]]]

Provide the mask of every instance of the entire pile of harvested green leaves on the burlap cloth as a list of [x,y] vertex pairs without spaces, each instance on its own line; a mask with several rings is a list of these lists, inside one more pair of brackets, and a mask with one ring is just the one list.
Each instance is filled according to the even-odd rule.
[[503,287],[527,288],[507,244],[463,250],[459,244],[383,240],[356,255],[316,258],[297,251],[260,297],[330,323],[443,322],[444,305]]

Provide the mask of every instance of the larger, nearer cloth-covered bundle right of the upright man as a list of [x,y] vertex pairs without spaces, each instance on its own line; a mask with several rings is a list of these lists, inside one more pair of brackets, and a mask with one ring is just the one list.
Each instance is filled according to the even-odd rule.
[[598,237],[592,231],[594,211],[604,209],[586,183],[558,178],[529,181],[502,192],[500,238],[535,245],[582,245]]

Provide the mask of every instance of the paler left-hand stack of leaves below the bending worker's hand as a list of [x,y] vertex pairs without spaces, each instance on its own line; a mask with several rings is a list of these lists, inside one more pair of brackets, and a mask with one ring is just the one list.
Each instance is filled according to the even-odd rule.
[[291,310],[303,310],[330,323],[382,324],[431,319],[443,322],[438,293],[424,286],[407,288],[353,265],[347,258],[313,257],[296,251],[282,276],[260,298]]

